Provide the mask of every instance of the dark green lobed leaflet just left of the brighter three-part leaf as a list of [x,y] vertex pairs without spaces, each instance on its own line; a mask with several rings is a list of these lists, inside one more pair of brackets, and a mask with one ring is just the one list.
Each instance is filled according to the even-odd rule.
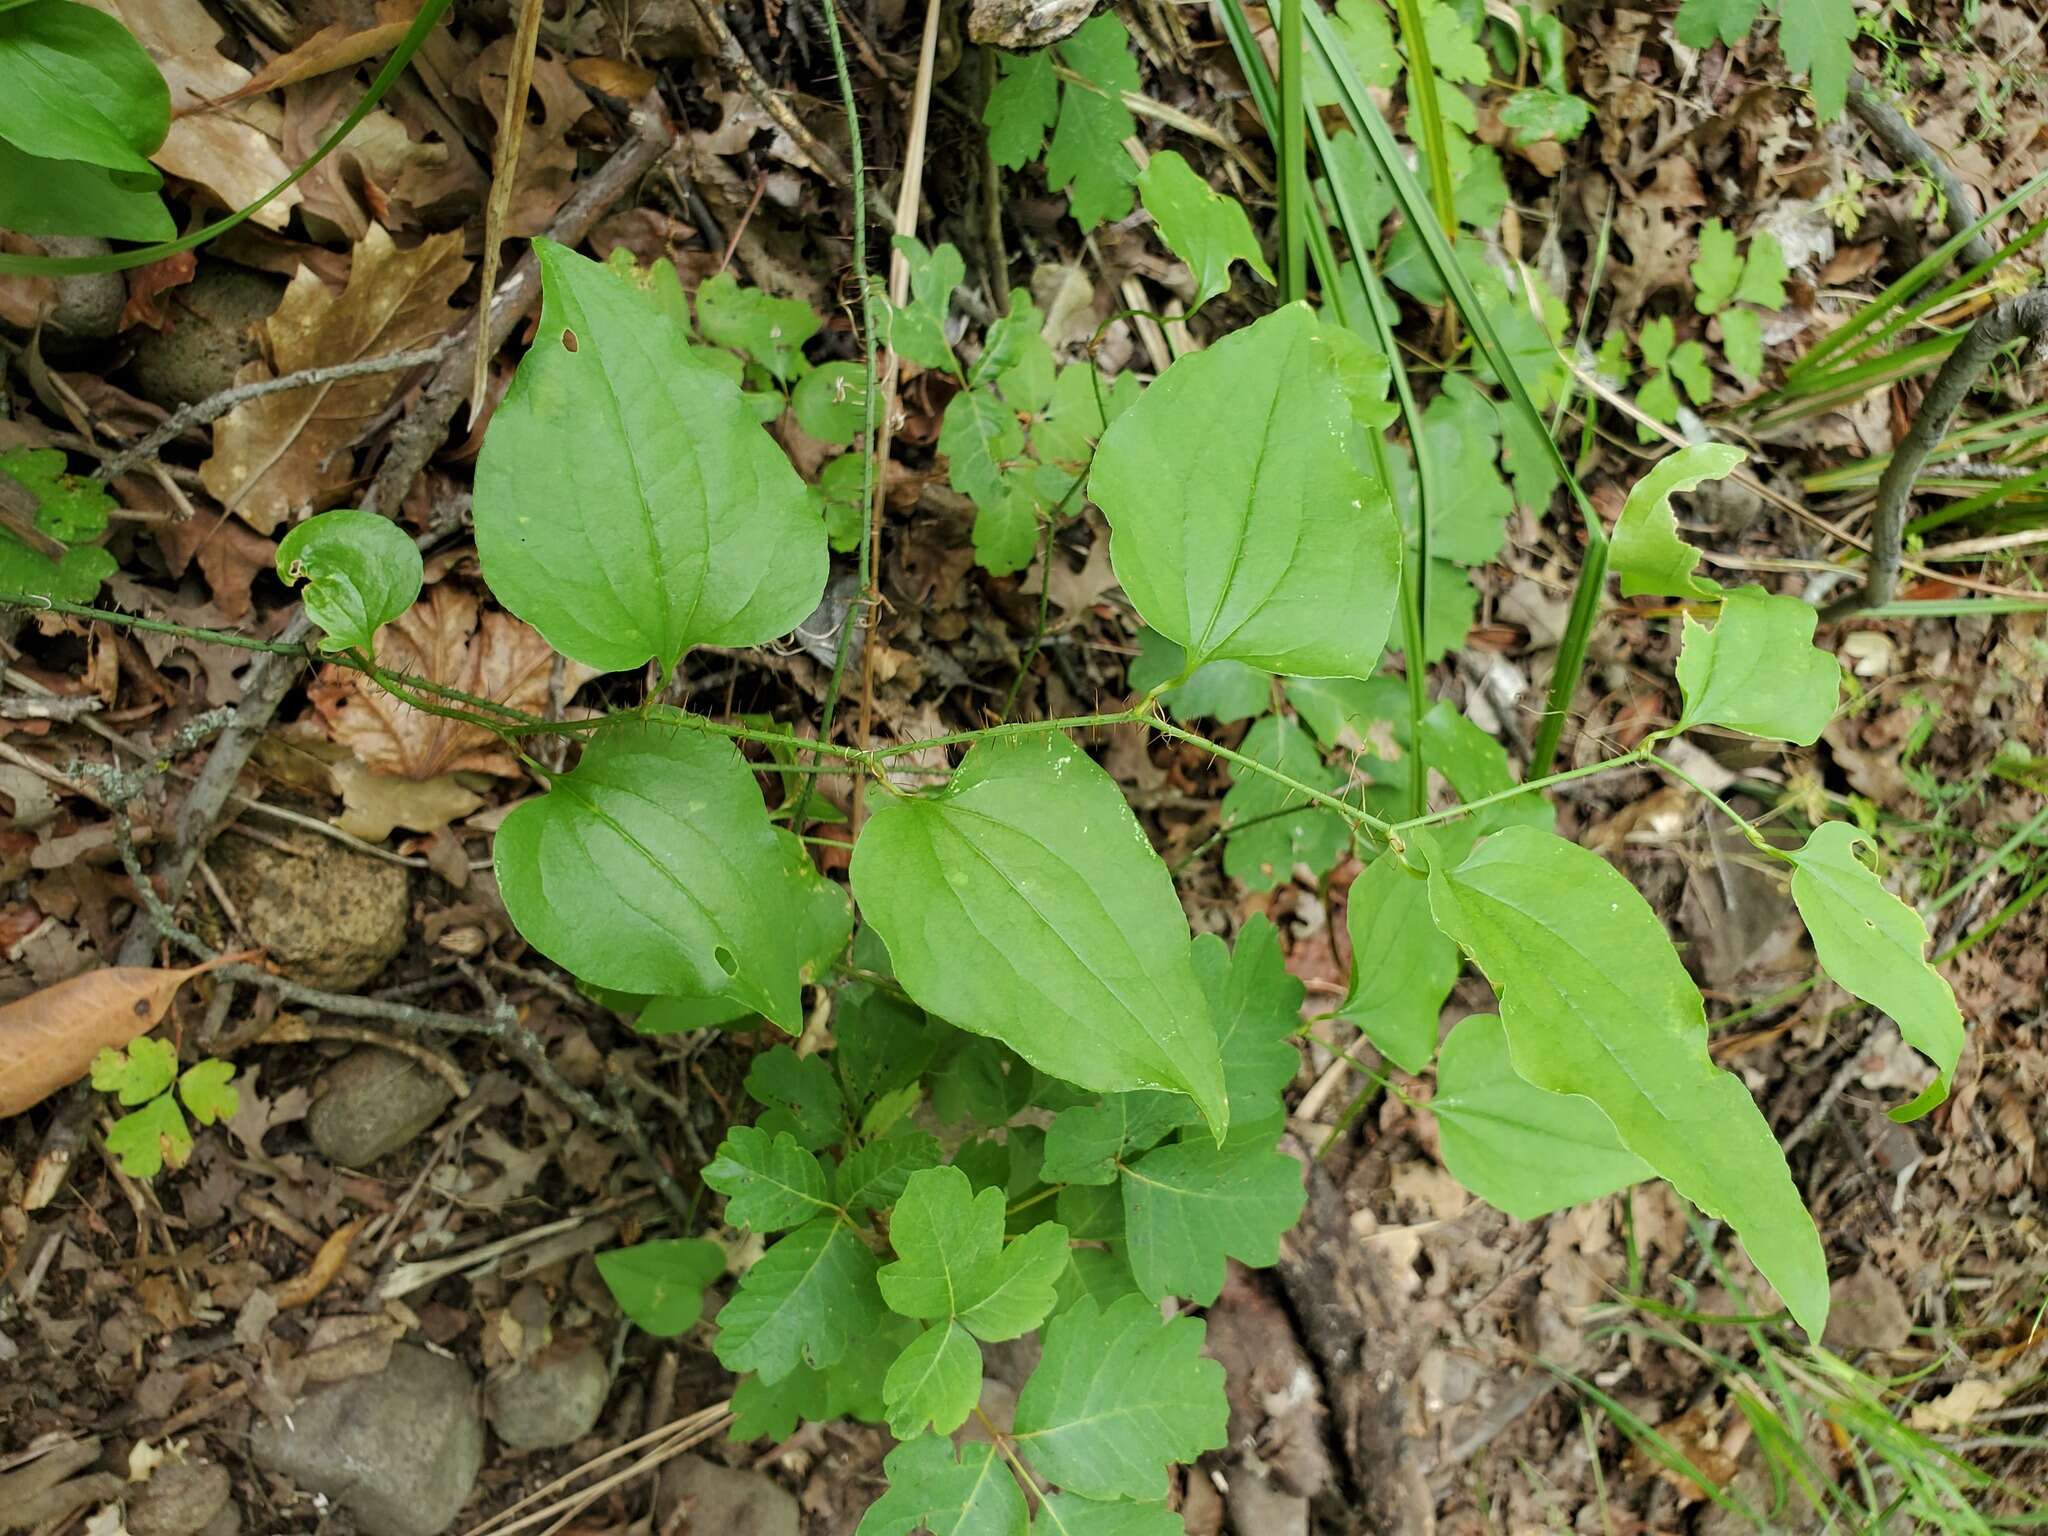
[[838,1217],[786,1233],[739,1276],[719,1311],[719,1364],[758,1370],[768,1382],[797,1366],[836,1366],[887,1317],[874,1268],[860,1233]]

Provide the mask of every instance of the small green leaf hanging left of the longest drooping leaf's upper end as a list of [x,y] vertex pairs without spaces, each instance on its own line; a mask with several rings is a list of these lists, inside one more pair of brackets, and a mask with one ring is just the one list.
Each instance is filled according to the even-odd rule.
[[1458,983],[1458,946],[1430,922],[1430,885],[1397,854],[1380,854],[1352,881],[1346,928],[1352,989],[1341,1016],[1405,1073],[1436,1055],[1438,1018]]

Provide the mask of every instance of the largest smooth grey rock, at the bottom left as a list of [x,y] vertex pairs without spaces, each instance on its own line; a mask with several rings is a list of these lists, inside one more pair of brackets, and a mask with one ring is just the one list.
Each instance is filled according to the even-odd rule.
[[250,1456],[344,1505],[362,1536],[440,1536],[483,1466],[475,1384],[459,1362],[399,1343],[381,1372],[315,1386],[283,1423],[258,1423]]

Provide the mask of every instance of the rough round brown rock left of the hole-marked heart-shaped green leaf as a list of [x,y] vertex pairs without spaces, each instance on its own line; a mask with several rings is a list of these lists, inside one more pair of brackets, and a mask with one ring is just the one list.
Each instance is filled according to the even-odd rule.
[[406,868],[326,838],[301,838],[293,848],[305,854],[223,838],[211,858],[250,940],[279,971],[307,987],[354,991],[406,948]]

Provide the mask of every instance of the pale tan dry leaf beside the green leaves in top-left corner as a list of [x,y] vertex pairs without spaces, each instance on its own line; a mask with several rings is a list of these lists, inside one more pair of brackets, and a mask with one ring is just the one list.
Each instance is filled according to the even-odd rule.
[[[279,152],[274,102],[213,106],[246,86],[250,72],[221,53],[225,33],[199,0],[86,2],[135,33],[170,86],[170,135],[150,160],[172,176],[199,182],[229,209],[254,203],[291,174]],[[293,186],[250,217],[283,229],[297,205],[299,188]]]

